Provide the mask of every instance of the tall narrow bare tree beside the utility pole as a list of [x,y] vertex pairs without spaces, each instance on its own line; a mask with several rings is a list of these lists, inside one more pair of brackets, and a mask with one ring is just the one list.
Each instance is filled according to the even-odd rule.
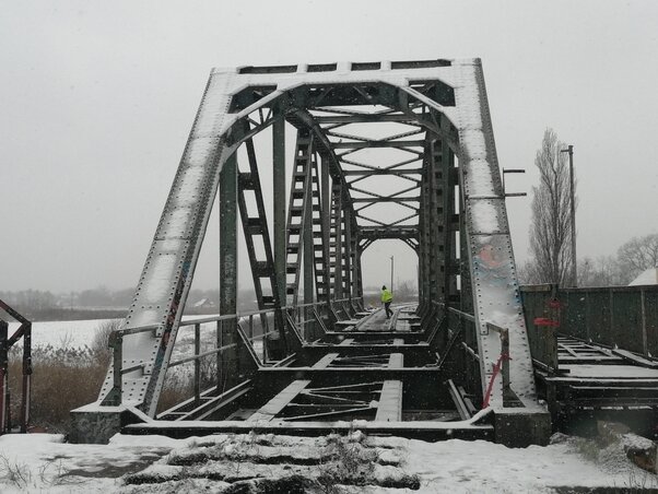
[[[528,279],[533,283],[567,285],[573,260],[571,240],[571,193],[564,144],[552,129],[547,129],[537,151],[534,166],[539,186],[532,187],[532,223]],[[574,280],[575,282],[575,280]]]

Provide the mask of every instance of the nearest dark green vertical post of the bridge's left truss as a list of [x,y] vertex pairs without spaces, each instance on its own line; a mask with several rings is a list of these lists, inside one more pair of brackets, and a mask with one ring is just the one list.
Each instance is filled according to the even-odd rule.
[[[224,164],[220,174],[220,314],[237,311],[237,152]],[[237,343],[234,319],[223,320],[218,330],[220,345]],[[238,383],[238,351],[233,346],[221,354],[218,388],[232,388]]]

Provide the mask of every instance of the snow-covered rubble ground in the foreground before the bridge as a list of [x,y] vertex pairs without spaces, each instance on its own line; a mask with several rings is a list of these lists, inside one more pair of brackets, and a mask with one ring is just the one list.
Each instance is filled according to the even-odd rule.
[[[559,439],[547,447],[510,449],[482,440],[424,443],[356,432],[349,438],[116,435],[109,445],[72,445],[61,435],[16,434],[0,437],[0,492],[257,492],[247,489],[254,479],[261,479],[258,492],[274,492],[267,490],[274,486],[268,479],[296,479],[275,492],[309,493],[564,493],[567,486],[627,492],[658,486],[655,475],[626,460],[619,444],[592,455],[584,439]],[[342,483],[352,485],[337,487]]]

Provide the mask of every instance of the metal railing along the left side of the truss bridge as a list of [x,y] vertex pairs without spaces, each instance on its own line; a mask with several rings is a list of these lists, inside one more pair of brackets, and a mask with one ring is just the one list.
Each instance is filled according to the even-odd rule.
[[[281,310],[284,311],[284,320],[287,325],[287,338],[297,339],[299,343],[306,340],[319,338],[322,331],[327,329],[328,321],[332,320],[332,317],[337,317],[339,320],[353,316],[355,306],[359,304],[356,298],[341,298],[330,301],[329,304],[325,302],[299,304],[295,306],[286,306]],[[195,400],[199,401],[202,393],[202,368],[201,363],[204,358],[215,357],[216,358],[216,373],[222,367],[222,356],[227,351],[236,351],[237,348],[243,344],[257,366],[263,365],[282,365],[282,362],[291,358],[294,353],[292,351],[286,355],[279,355],[279,358],[274,360],[273,355],[268,348],[269,339],[279,339],[279,329],[274,327],[274,313],[277,309],[263,309],[254,310],[249,313],[227,314],[219,316],[210,316],[195,319],[184,319],[178,325],[179,331],[183,328],[191,327],[193,329],[193,338],[191,341],[192,354],[183,355],[173,361],[169,361],[167,369],[173,367],[181,366],[185,364],[193,365],[193,396]],[[223,341],[223,325],[232,324],[235,330],[232,342],[224,343]],[[208,331],[209,328],[203,328],[207,325],[214,325],[215,338],[213,339],[214,344],[209,350],[202,350],[202,332]],[[136,328],[119,329],[111,333],[109,338],[109,348],[113,353],[113,389],[108,393],[107,398],[103,401],[103,404],[118,405],[121,403],[124,376],[126,374],[142,370],[145,367],[145,363],[137,363],[130,366],[124,366],[124,339],[130,334],[138,334],[142,332],[153,331],[155,332],[160,328],[158,325],[148,325]],[[320,330],[318,331],[317,328]],[[212,331],[213,329],[210,329]],[[183,351],[184,344],[176,342],[176,349]],[[295,345],[291,345],[292,349]],[[240,363],[238,362],[238,366]],[[239,369],[232,369],[236,374]],[[221,383],[216,383],[216,387],[221,388]]]

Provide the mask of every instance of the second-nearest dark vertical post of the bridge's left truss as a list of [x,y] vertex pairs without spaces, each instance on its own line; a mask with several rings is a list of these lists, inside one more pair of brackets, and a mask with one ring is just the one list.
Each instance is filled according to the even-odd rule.
[[279,299],[285,301],[285,118],[279,106],[274,107],[272,122],[273,158],[273,222],[274,271]]

